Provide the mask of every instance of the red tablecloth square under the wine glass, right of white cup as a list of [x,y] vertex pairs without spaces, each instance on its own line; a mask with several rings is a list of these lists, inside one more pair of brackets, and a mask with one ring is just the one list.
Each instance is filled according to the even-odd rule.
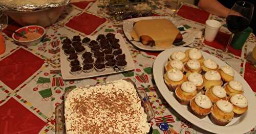
[[[215,40],[212,42],[208,42],[204,40],[204,44],[214,47],[216,49],[225,49],[229,40],[230,34],[226,34],[223,32],[219,32],[215,37]],[[242,50],[241,49],[234,49],[231,45],[228,47],[230,53],[233,53],[236,56],[241,57]]]

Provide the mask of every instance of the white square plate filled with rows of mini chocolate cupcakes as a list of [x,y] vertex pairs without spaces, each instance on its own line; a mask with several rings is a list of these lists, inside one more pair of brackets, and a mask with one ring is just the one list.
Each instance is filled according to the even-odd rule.
[[61,42],[63,79],[88,78],[135,68],[131,53],[120,34],[73,36]]

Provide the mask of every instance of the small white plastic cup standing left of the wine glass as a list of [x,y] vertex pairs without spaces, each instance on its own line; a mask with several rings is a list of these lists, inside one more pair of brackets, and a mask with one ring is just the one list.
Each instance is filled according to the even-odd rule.
[[204,39],[209,42],[214,41],[220,28],[221,28],[221,22],[214,19],[206,20]]

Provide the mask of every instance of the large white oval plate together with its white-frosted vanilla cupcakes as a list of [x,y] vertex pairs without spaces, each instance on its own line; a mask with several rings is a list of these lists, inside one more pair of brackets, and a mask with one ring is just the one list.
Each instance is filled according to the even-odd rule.
[[232,67],[196,48],[171,48],[158,55],[156,85],[172,108],[213,133],[245,133],[256,124],[256,97]]

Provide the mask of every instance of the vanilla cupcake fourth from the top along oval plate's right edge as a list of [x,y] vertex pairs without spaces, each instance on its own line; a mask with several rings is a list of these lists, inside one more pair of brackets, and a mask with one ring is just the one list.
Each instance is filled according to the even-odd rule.
[[228,96],[232,96],[234,94],[242,94],[244,92],[243,85],[236,81],[225,83],[224,89],[226,90]]

